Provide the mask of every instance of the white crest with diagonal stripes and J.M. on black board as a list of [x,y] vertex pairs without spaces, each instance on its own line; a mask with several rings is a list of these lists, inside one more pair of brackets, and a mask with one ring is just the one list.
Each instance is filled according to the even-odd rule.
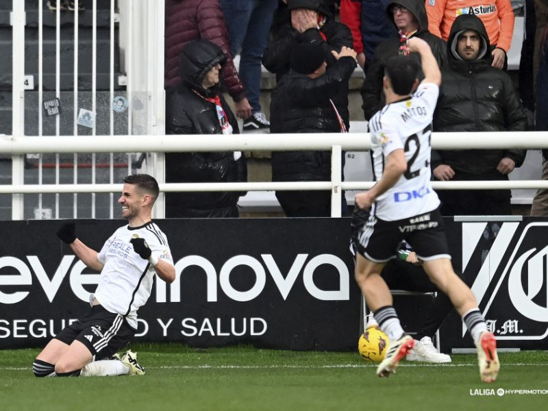
[[[487,223],[463,223],[463,271],[470,262],[474,251],[477,251],[477,245],[484,236],[486,226]],[[531,322],[527,323],[536,329],[536,332],[532,332],[532,330],[527,332],[522,329],[522,322],[517,326],[516,319],[500,318],[499,315],[499,323],[504,323],[504,325],[515,323],[516,327],[512,327],[512,333],[509,333],[505,328],[503,332],[500,332],[501,335],[497,335],[497,339],[540,340],[548,336],[548,275],[545,269],[548,266],[548,245],[543,242],[547,238],[548,223],[529,223],[523,228],[521,235],[518,231],[519,226],[520,223],[500,223],[500,230],[482,260],[483,263],[475,278],[472,291],[479,303],[484,303],[487,300],[483,313],[486,319],[493,323],[496,320],[491,319],[489,309],[496,301],[497,295],[504,298],[505,293],[508,292],[508,299],[517,311],[516,314],[519,313],[525,317],[522,322],[527,322],[528,319]],[[510,248],[510,244],[515,241],[516,234],[519,235],[519,239]],[[499,272],[501,275],[497,275]],[[495,288],[491,287],[493,291],[488,292],[492,283],[495,284]],[[500,304],[500,301],[498,303]],[[509,312],[507,308],[503,310],[506,314]],[[497,310],[494,310],[493,313],[495,311]],[[463,328],[463,335],[464,331]]]

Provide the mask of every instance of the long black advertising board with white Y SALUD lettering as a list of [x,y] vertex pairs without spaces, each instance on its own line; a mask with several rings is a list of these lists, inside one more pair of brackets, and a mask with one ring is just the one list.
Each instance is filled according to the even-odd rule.
[[[446,218],[458,272],[478,297],[500,347],[544,349],[548,335],[548,222]],[[295,350],[356,349],[360,291],[349,219],[158,220],[177,279],[155,282],[140,309],[141,342],[194,347],[252,344]],[[2,222],[0,349],[39,347],[88,309],[99,275],[55,238],[58,221]],[[99,249],[124,221],[80,220]],[[408,329],[417,301],[397,299]],[[473,347],[456,314],[441,328],[443,351]]]

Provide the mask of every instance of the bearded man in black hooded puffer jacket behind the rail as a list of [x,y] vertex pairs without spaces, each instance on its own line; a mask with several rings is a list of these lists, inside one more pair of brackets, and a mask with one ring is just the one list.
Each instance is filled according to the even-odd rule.
[[[447,41],[448,64],[436,112],[434,132],[525,131],[527,118],[512,80],[491,66],[489,38],[473,14],[458,16]],[[525,160],[526,150],[444,150],[433,152],[438,180],[508,180]],[[509,215],[510,190],[440,190],[441,212],[453,215]]]

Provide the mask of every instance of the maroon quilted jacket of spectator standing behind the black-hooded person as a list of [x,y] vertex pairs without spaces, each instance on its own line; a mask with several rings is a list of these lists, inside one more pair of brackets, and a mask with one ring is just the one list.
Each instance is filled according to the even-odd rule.
[[223,83],[230,97],[234,101],[245,97],[245,88],[230,55],[228,29],[219,0],[166,0],[165,36],[166,88],[181,82],[179,55],[184,45],[190,40],[202,38],[221,47],[227,55]]

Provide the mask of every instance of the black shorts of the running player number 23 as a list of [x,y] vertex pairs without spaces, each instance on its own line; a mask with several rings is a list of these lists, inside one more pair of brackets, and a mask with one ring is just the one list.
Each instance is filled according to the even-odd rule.
[[356,209],[352,214],[352,242],[362,256],[373,262],[387,262],[397,256],[406,240],[421,260],[451,258],[439,208],[397,221],[384,221]]

